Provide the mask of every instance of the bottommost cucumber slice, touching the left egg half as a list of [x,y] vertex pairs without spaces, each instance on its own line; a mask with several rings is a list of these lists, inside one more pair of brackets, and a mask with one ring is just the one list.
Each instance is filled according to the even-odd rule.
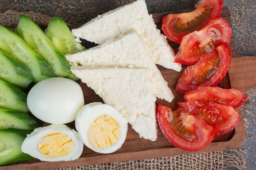
[[29,133],[29,130],[13,128],[0,130],[0,166],[33,159],[21,150],[22,142]]

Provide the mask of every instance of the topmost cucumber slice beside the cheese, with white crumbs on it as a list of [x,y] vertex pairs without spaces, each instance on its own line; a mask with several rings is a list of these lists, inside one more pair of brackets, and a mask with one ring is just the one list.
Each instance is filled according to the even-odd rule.
[[64,55],[85,51],[62,18],[51,18],[45,34]]

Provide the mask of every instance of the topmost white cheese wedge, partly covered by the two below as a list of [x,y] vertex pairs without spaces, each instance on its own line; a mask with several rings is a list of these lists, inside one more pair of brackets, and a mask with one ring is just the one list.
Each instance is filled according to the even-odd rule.
[[174,63],[175,53],[169,46],[166,37],[156,28],[152,15],[148,14],[144,0],[137,0],[124,7],[99,15],[83,26],[72,29],[72,33],[90,42],[103,44],[107,40],[136,31],[144,40],[150,56],[156,64],[175,71],[181,65]]

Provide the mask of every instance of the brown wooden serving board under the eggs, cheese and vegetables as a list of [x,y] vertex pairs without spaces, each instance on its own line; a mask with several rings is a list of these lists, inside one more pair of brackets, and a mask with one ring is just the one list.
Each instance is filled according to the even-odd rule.
[[[167,12],[167,13],[157,13],[153,14],[153,18],[157,25],[158,29],[161,29],[161,22],[162,17],[167,15],[168,13],[181,13],[187,12],[191,10],[183,10],[183,11],[174,11],[174,12]],[[227,7],[223,7],[221,16],[231,23],[231,17],[229,10]],[[78,25],[79,26],[79,25]],[[78,26],[72,26],[72,28],[77,28]],[[174,49],[175,53],[178,51],[179,44],[168,41],[171,47]],[[95,46],[93,43],[89,43],[83,41],[82,44],[85,48],[90,48]],[[238,55],[235,52],[235,45],[234,45],[234,38],[232,37],[230,42],[230,48],[232,51],[232,60],[231,66],[229,68],[229,73],[224,77],[224,79],[220,82],[218,86],[222,88],[236,88],[243,93],[247,90],[256,86],[256,57],[249,57]],[[166,69],[162,66],[157,66],[161,71],[164,79],[168,82],[168,85],[171,89],[175,89],[175,86],[178,82],[178,79],[182,75],[186,66],[182,66],[182,71],[176,72],[173,70]],[[78,82],[82,89],[85,99],[85,104],[91,102],[103,102],[103,100],[94,93],[94,91],[86,84]],[[168,106],[172,109],[175,109],[177,102],[184,102],[184,95],[173,92],[175,98],[173,99],[172,103],[168,103],[164,100],[157,99],[157,106],[159,103]],[[157,132],[157,140],[150,141],[146,139],[140,139],[139,135],[132,130],[130,125],[128,126],[128,133],[126,137],[126,141],[124,142],[123,146],[112,154],[100,154],[96,153],[89,148],[83,148],[83,154],[79,159],[74,161],[61,161],[61,162],[42,162],[38,159],[33,159],[30,161],[24,161],[21,163],[15,163],[9,166],[2,166],[0,170],[13,170],[13,169],[22,169],[22,170],[40,170],[40,169],[52,169],[52,168],[64,168],[64,167],[72,167],[72,166],[83,166],[83,165],[92,165],[92,164],[99,164],[99,163],[110,163],[110,162],[118,162],[118,161],[130,161],[136,159],[150,159],[156,157],[169,157],[174,155],[186,155],[192,153],[199,153],[199,152],[210,152],[210,151],[217,151],[217,150],[228,150],[232,148],[237,148],[241,146],[245,140],[245,128],[243,124],[243,116],[241,107],[236,108],[236,110],[240,114],[240,123],[236,127],[235,130],[231,132],[216,137],[211,144],[207,147],[203,148],[202,150],[196,152],[189,152],[184,151],[179,148],[175,148],[175,146],[171,145],[167,139],[162,134],[161,130]],[[38,120],[38,119],[37,119]],[[43,121],[38,120],[40,126],[47,126],[49,124],[44,123]],[[67,124],[71,128],[75,129],[74,122]]]

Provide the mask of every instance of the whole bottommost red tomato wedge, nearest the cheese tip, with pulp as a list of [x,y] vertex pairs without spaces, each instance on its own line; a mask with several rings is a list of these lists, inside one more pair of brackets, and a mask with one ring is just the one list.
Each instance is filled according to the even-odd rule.
[[216,135],[215,128],[207,125],[199,115],[190,115],[185,108],[171,111],[159,104],[157,119],[166,139],[183,150],[200,150],[210,144]]

